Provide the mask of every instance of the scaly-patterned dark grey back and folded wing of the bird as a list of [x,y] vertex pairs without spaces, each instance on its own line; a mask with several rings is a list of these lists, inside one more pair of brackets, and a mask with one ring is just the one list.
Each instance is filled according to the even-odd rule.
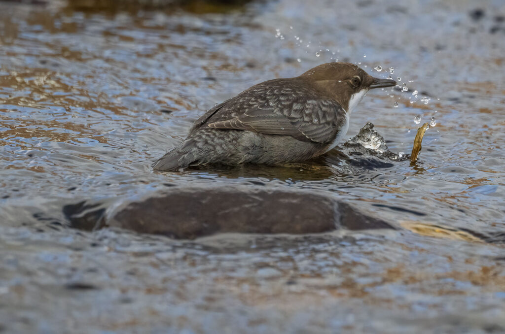
[[216,129],[288,135],[302,141],[327,143],[335,138],[345,121],[345,112],[338,102],[320,97],[311,87],[278,79],[253,86],[228,100],[206,121]]

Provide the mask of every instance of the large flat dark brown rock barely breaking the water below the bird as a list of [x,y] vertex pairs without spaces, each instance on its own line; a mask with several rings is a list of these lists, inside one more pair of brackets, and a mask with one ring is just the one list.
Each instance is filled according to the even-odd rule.
[[332,196],[249,186],[174,187],[126,204],[106,224],[138,233],[193,239],[215,233],[394,229]]

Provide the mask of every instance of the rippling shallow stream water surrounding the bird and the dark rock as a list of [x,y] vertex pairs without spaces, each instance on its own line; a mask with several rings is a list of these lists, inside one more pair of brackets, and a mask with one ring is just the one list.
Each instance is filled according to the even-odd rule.
[[[192,14],[0,3],[0,331],[505,330],[505,249],[475,237],[500,241],[505,228],[505,8],[476,6],[282,0]],[[370,92],[349,137],[372,122],[409,153],[414,117],[436,118],[417,163],[371,168],[333,151],[321,168],[151,171],[214,103],[335,58],[408,87]],[[166,183],[258,182],[331,192],[401,229],[189,243],[76,231],[62,212]]]

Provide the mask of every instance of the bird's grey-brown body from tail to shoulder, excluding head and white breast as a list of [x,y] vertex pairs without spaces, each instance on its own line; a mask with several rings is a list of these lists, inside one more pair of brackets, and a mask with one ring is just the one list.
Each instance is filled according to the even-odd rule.
[[310,82],[299,77],[269,80],[208,110],[155,169],[305,160],[321,154],[344,123],[340,104]]

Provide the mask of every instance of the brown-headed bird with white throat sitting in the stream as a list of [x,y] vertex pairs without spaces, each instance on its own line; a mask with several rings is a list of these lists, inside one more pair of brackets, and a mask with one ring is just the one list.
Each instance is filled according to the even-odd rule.
[[337,62],[297,77],[264,81],[209,109],[153,169],[278,165],[322,155],[344,138],[350,115],[370,89],[395,85],[355,64]]

